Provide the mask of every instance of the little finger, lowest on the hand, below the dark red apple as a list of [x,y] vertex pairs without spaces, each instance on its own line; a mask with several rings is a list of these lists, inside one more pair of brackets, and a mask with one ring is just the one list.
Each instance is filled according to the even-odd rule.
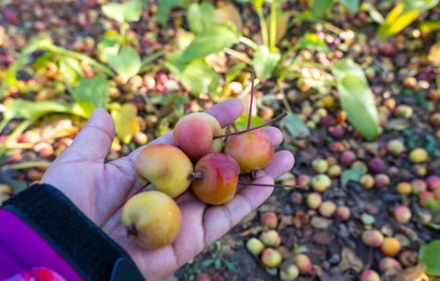
[[[273,178],[263,176],[254,182],[273,185]],[[219,239],[239,221],[242,221],[244,216],[257,209],[271,196],[272,191],[273,187],[248,186],[235,194],[230,203],[209,207],[203,217],[205,246]]]

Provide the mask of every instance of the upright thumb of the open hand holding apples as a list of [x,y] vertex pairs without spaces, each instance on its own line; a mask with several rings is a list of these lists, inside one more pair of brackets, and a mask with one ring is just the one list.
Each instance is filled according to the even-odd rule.
[[96,108],[63,157],[104,160],[115,138],[115,123],[107,111]]

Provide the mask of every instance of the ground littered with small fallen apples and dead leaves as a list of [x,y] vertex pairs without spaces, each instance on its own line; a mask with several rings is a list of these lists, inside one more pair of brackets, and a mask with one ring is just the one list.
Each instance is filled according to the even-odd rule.
[[[49,33],[57,45],[96,58],[97,44],[103,34],[117,30],[117,24],[102,14],[101,2],[1,1],[0,74],[12,65],[29,38],[41,32]],[[214,2],[217,7],[225,5],[224,1]],[[233,3],[243,19],[242,33],[260,43],[260,27],[251,4]],[[294,59],[300,63],[290,68],[291,73],[288,71],[285,78],[277,78],[277,74],[258,80],[255,118],[267,121],[285,110],[296,114],[299,121],[289,119],[291,124],[287,121],[277,124],[285,135],[280,148],[289,149],[296,157],[294,169],[280,183],[307,185],[310,191],[277,188],[257,212],[183,266],[176,273],[178,280],[194,280],[201,272],[209,273],[212,280],[279,280],[278,269],[265,269],[260,257],[254,257],[246,249],[248,239],[259,237],[269,229],[261,220],[265,212],[275,212],[278,217],[276,231],[281,244],[277,248],[284,265],[292,264],[299,253],[306,253],[312,260],[312,273],[296,279],[300,281],[358,280],[359,273],[365,269],[379,272],[383,253],[362,241],[362,233],[369,229],[380,230],[385,237],[400,241],[402,250],[396,259],[407,269],[417,264],[421,246],[440,239],[440,216],[434,210],[435,203],[440,200],[440,187],[434,187],[435,184],[428,180],[440,176],[438,58],[433,58],[438,53],[432,49],[439,34],[421,32],[419,28],[419,24],[427,20],[438,22],[440,14],[435,9],[425,11],[399,34],[379,41],[376,37],[378,24],[371,18],[371,11],[387,15],[394,3],[362,3],[370,3],[377,10],[364,7],[350,15],[337,4],[319,21],[301,20],[307,10],[305,1],[282,4],[282,9],[292,15],[279,43],[282,51],[294,46],[305,33],[317,34],[330,51],[316,51],[314,46],[288,53],[283,58],[288,65],[294,65]],[[265,12],[268,11],[266,7]],[[142,58],[160,50],[167,56],[176,48],[182,28],[188,28],[182,8],[172,10],[165,25],[158,23],[157,12],[155,1],[144,3],[142,19],[130,24],[127,32],[136,42],[135,49]],[[237,44],[235,49],[250,58],[253,56],[253,51],[244,44]],[[31,61],[42,53],[33,53]],[[347,119],[339,102],[339,87],[335,85],[332,71],[325,67],[344,58],[351,58],[362,67],[373,92],[380,118],[380,135],[370,140]],[[248,104],[248,88],[247,92],[244,89],[250,84],[251,69],[248,67],[232,81],[225,81],[228,69],[239,60],[230,56],[230,52],[210,55],[207,60],[221,77],[218,94],[192,94],[189,87],[164,66],[164,58],[159,57],[151,67],[128,82],[118,76],[110,79],[110,99],[112,103],[135,105],[137,112],[133,118],[138,130],[145,134],[141,136],[148,137],[149,141],[170,130],[183,114],[203,110],[228,97],[242,99]],[[85,76],[94,76],[90,65],[81,67]],[[37,90],[10,89],[0,96],[1,104],[14,99],[71,101],[69,85],[65,85],[59,71],[53,62],[47,62],[44,71],[35,70],[35,66],[25,68],[17,75],[19,80],[34,79],[39,87]],[[0,109],[4,114],[5,107]],[[47,164],[71,143],[84,121],[82,117],[69,114],[50,114],[37,119],[28,130],[20,133],[1,158],[2,198],[10,196],[8,187],[17,192],[26,188],[26,180],[37,182]],[[19,119],[16,119],[6,126],[1,132],[2,142],[6,142],[18,124]],[[393,139],[403,144],[403,149],[397,153],[390,147]],[[130,137],[126,142],[119,136],[109,160],[128,154],[142,142]],[[427,159],[414,160],[416,156],[409,153],[415,148],[428,151]],[[350,155],[346,151],[353,152],[350,155],[354,159],[347,159]],[[313,179],[319,169],[312,165],[316,159],[322,159],[330,167],[341,168],[342,176],[330,174],[330,188],[320,194],[323,201],[348,207],[349,219],[335,215],[325,219],[306,203],[307,194],[316,190]],[[355,171],[356,166],[362,167],[360,173]],[[352,174],[348,175],[347,171]],[[321,173],[329,174],[329,171],[325,169]],[[341,182],[344,173],[350,180]],[[374,187],[362,181],[362,175],[373,176]],[[397,188],[400,182],[409,183],[409,194]],[[396,205],[409,207],[412,216],[408,223],[396,221],[392,214]],[[381,274],[382,280],[394,280],[398,273],[385,271]]]

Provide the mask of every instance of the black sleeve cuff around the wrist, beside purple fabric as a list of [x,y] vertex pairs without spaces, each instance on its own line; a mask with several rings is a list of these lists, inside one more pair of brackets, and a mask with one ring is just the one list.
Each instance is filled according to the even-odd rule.
[[58,189],[33,185],[4,208],[31,226],[84,280],[144,281],[130,256]]

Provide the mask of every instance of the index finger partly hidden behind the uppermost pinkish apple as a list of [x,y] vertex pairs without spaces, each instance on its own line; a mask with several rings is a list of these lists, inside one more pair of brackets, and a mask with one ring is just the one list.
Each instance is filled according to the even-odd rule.
[[[219,124],[222,127],[228,126],[235,119],[237,119],[243,111],[243,104],[237,99],[228,99],[227,101],[223,101],[218,103],[217,105],[212,105],[212,107],[208,108],[205,112],[211,114],[215,117]],[[173,131],[162,135],[158,139],[155,139],[153,142],[149,144],[171,144],[176,145],[176,142],[173,139]],[[147,144],[147,146],[149,145]],[[141,146],[137,148],[135,151],[130,153],[128,157],[134,162],[136,160],[137,155],[145,148],[146,146]]]

